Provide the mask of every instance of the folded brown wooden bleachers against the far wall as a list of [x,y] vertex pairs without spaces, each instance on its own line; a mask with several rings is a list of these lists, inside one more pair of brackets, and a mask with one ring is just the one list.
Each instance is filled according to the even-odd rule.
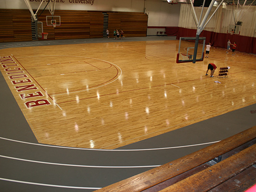
[[[143,12],[107,12],[108,29],[113,37],[114,29],[123,29],[125,37],[147,36],[148,15]],[[83,39],[103,37],[103,14],[99,11],[55,10],[61,16],[61,26],[46,26],[48,11],[40,12],[38,21],[48,40]],[[0,9],[0,42],[32,41],[29,10]],[[43,40],[43,39],[38,39]]]

